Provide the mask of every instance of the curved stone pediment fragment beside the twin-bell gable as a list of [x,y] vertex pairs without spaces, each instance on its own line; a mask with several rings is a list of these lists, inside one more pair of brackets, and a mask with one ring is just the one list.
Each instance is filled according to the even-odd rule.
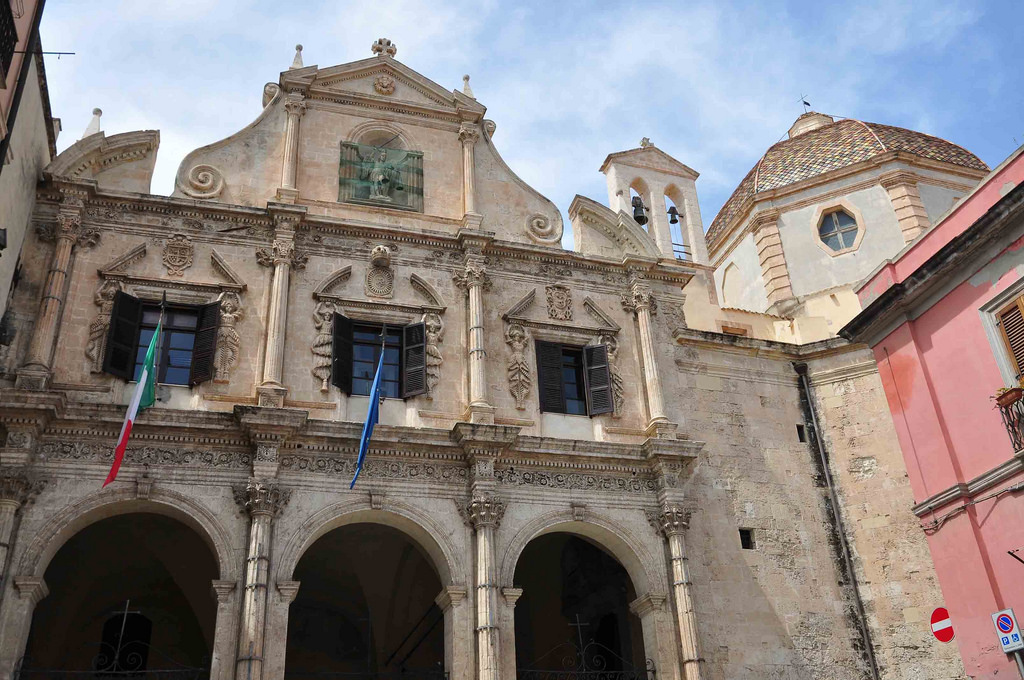
[[629,214],[593,199],[577,195],[569,205],[569,219],[575,250],[583,255],[660,257],[654,240]]

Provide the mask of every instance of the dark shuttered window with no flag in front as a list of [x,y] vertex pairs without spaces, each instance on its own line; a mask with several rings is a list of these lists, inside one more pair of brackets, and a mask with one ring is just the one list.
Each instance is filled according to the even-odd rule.
[[541,411],[578,416],[611,413],[611,374],[604,345],[571,347],[537,342]]

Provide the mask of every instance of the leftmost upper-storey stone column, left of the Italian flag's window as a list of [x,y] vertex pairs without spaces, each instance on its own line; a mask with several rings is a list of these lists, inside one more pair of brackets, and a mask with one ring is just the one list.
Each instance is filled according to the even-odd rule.
[[49,382],[50,363],[57,329],[63,313],[68,279],[74,265],[75,247],[92,247],[99,242],[99,231],[82,226],[85,193],[62,189],[56,223],[37,229],[41,241],[53,241],[53,257],[43,284],[39,313],[32,332],[25,366],[17,372],[16,384],[23,389],[43,390]]

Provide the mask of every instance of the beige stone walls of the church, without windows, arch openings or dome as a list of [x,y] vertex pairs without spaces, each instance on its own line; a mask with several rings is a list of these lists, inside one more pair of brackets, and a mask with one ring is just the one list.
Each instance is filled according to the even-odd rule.
[[[423,608],[435,605],[443,638],[431,668],[452,680],[508,680],[528,661],[515,640],[524,609],[513,607],[531,606],[531,593],[517,567],[552,535],[583,537],[621,566],[616,597],[632,599],[616,621],[663,680],[859,680],[865,644],[886,680],[962,677],[955,651],[933,647],[920,621],[938,592],[870,357],[837,339],[781,342],[777,318],[723,309],[707,266],[659,258],[651,235],[596,202],[573,202],[578,250],[562,250],[560,211],[498,156],[482,104],[394,54],[382,39],[370,60],[284,72],[257,121],[181,161],[174,200],[110,171],[40,186],[39,238],[11,303],[16,372],[0,381],[11,532],[0,538],[0,679],[30,637],[54,635],[43,608],[66,603],[68,588],[44,576],[62,546],[93,524],[155,516],[210,553],[193,618],[211,680],[295,671],[289,624],[309,611],[312,588],[298,565],[336,532],[401,535],[407,554],[424,556],[439,585]],[[339,137],[422,150],[423,210],[339,202]],[[65,154],[78,167],[98,152]],[[180,250],[162,252],[168,239]],[[180,308],[219,300],[220,316],[212,379],[161,385],[101,488],[134,389],[102,373],[118,290]],[[333,384],[336,311],[425,330],[426,393],[380,405],[352,490],[368,400]],[[607,377],[613,413],[542,411],[538,341],[570,358],[607,347],[607,373],[588,364],[582,384]],[[814,421],[795,362],[819,390],[839,508],[797,435]],[[396,368],[409,368],[404,354]],[[4,470],[47,483],[33,497]],[[837,512],[852,571],[834,548]],[[741,548],[740,528],[756,550]],[[855,595],[870,611],[866,642]]]

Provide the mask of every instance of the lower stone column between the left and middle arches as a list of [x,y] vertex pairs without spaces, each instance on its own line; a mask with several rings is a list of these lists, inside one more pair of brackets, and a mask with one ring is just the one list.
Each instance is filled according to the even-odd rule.
[[255,478],[250,478],[244,487],[234,490],[234,500],[250,517],[236,680],[261,680],[263,676],[270,536],[273,518],[288,503],[288,498],[289,492],[281,490],[278,484]]

